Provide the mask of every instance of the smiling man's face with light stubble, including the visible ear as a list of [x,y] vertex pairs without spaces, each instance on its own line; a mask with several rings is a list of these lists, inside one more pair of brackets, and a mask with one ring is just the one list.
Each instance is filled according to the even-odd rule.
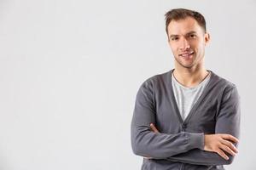
[[168,26],[168,37],[176,66],[192,68],[202,64],[210,37],[195,19],[172,20]]

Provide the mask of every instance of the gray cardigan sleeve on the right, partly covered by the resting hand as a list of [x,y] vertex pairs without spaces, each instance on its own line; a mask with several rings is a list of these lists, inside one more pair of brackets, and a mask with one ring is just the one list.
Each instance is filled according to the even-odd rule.
[[[234,87],[224,93],[220,111],[216,117],[215,133],[229,133],[239,139],[240,116],[239,94],[236,87]],[[237,146],[237,144],[235,145]],[[176,156],[170,156],[167,160],[196,165],[227,165],[234,160],[234,156],[228,153],[226,154],[229,156],[229,160],[227,161],[217,153],[195,149]]]

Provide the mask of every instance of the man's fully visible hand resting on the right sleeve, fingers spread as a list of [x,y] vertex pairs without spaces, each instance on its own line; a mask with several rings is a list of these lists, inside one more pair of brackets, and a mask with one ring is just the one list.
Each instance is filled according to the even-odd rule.
[[238,153],[236,146],[232,142],[238,143],[238,139],[230,134],[205,134],[204,150],[216,152],[225,160],[229,160],[224,151],[232,156],[236,156],[236,153]]

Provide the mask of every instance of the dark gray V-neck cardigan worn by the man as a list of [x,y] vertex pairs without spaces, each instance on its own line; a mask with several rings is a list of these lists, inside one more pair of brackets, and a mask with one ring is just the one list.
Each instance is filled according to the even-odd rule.
[[[173,70],[172,70],[173,71]],[[131,121],[131,146],[143,170],[224,169],[229,161],[204,151],[204,133],[239,137],[240,105],[236,86],[212,71],[210,81],[183,121],[172,91],[172,71],[148,78],[137,92]],[[153,122],[160,133],[150,130]]]

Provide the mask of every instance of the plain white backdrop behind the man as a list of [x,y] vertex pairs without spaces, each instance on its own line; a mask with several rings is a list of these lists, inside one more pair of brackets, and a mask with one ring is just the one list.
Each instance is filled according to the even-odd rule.
[[140,169],[131,116],[141,83],[173,68],[171,8],[205,15],[207,69],[241,95],[227,169],[255,169],[255,0],[0,0],[0,169]]

